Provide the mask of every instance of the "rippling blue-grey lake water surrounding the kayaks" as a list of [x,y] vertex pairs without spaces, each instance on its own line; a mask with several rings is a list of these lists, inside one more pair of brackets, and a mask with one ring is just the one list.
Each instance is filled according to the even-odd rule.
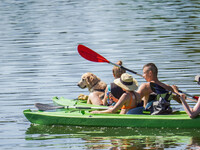
[[85,72],[113,81],[112,66],[83,59],[78,44],[138,73],[153,62],[161,81],[198,95],[199,0],[0,0],[0,20],[0,149],[200,148],[197,129],[33,126],[22,113],[88,94],[77,87]]

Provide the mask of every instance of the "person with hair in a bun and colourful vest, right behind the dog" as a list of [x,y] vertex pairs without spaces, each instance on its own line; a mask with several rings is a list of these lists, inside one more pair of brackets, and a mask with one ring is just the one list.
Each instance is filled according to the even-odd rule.
[[[121,66],[122,61],[118,61],[116,64]],[[121,75],[125,72],[126,72],[125,69],[119,68],[117,66],[114,66],[112,69],[113,77],[115,79],[120,78]],[[102,100],[103,105],[114,106],[123,93],[124,93],[124,91],[122,90],[122,88],[119,87],[118,85],[116,85],[115,83],[108,84],[105,89],[105,96]]]

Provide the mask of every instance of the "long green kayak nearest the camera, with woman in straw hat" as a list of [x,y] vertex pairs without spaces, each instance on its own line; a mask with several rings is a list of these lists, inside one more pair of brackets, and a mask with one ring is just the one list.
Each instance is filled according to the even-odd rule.
[[183,111],[171,115],[92,114],[83,109],[62,109],[55,112],[24,110],[23,113],[31,123],[42,125],[200,128],[200,116],[190,119]]

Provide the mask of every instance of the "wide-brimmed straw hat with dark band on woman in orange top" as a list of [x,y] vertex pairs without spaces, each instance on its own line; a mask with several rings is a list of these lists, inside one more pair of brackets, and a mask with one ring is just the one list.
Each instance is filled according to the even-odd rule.
[[138,88],[137,81],[128,73],[123,73],[120,78],[114,80],[114,83],[128,91],[134,91]]

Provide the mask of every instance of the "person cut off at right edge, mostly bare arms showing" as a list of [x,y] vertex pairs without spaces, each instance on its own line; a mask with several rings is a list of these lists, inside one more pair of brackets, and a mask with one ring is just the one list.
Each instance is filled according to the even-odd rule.
[[[195,77],[195,80],[196,80],[197,83],[200,85],[200,75],[197,75],[197,76]],[[181,99],[182,105],[183,105],[183,107],[184,107],[186,113],[189,115],[189,117],[190,117],[191,119],[197,117],[197,116],[200,114],[200,97],[199,97],[198,102],[196,103],[196,105],[195,105],[193,108],[191,108],[191,107],[187,104],[187,102],[185,101],[185,99],[186,99],[185,94],[179,93],[179,92],[178,92],[178,87],[177,87],[177,86],[173,85],[172,87],[173,87],[174,91],[175,91],[177,94],[180,95],[180,99]]]

